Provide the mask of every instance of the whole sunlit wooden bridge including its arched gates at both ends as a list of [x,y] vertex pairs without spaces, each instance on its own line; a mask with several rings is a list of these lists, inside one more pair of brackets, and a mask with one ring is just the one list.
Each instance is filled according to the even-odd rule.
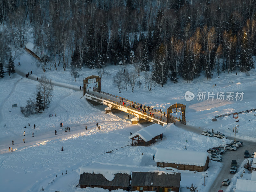
[[[92,79],[96,79],[96,81],[93,81]],[[101,88],[100,80],[101,79],[99,76],[89,76],[85,78],[84,79],[84,96],[86,97],[87,100],[92,100],[92,101],[107,105],[108,109],[106,109],[106,113],[114,112],[114,111],[123,111],[135,117],[138,117],[136,120],[132,122],[132,124],[151,122],[151,123],[164,125],[168,123],[175,124],[176,121],[186,124],[186,119],[185,119],[186,106],[185,105],[179,104],[179,103],[174,104],[167,109],[167,113],[145,106],[146,112],[144,112],[145,111],[145,110],[143,111],[144,105],[142,105],[143,107],[140,108],[141,106],[140,103],[137,103],[125,98],[121,98],[113,94],[102,92],[100,90]],[[93,92],[89,91],[91,87],[88,88],[88,84],[90,83],[97,84],[97,86],[93,87]],[[125,102],[125,105],[123,105],[123,102]],[[180,110],[177,111],[177,108],[179,108]],[[182,114],[182,118],[180,119],[172,116],[173,112],[175,113],[180,112],[180,115]]]

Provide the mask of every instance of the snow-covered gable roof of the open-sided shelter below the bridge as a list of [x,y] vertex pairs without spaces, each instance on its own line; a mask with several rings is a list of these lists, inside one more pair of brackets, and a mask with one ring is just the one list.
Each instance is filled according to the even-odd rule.
[[164,133],[164,131],[165,129],[162,125],[152,124],[135,132],[129,137],[129,139],[139,135],[144,141],[150,141],[152,138],[156,137],[157,135]]

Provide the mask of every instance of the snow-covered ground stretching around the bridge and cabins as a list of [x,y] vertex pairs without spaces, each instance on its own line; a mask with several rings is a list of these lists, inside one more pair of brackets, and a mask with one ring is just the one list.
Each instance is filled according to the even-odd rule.
[[[20,62],[20,66],[18,66]],[[33,98],[36,92],[37,82],[33,79],[25,78],[18,74],[8,76],[5,74],[0,79],[0,186],[1,191],[40,191],[44,187],[44,191],[104,191],[100,188],[80,189],[76,185],[79,182],[80,171],[82,167],[95,167],[95,170],[111,169],[116,167],[134,167],[136,170],[159,170],[164,168],[156,167],[152,155],[156,153],[157,148],[169,148],[191,151],[206,151],[208,148],[223,143],[218,138],[210,138],[189,132],[174,124],[164,126],[164,138],[162,141],[153,144],[150,147],[125,147],[131,143],[128,139],[130,132],[134,133],[140,129],[138,126],[131,125],[131,121],[127,119],[125,113],[121,114],[105,114],[106,106],[93,106],[85,98],[82,98],[82,91],[76,91],[83,86],[83,78],[87,76],[98,75],[97,70],[83,68],[81,76],[74,81],[70,76],[70,69],[66,71],[58,67],[58,70],[46,70],[42,72],[36,66],[35,59],[27,52],[20,60],[15,60],[16,69],[21,73],[33,71],[32,77],[36,79],[41,75],[51,78],[56,84],[54,86],[54,97],[52,103],[44,113],[39,115],[24,117],[20,112],[20,106],[25,106],[26,100]],[[220,131],[229,137],[233,137],[232,128],[239,124],[239,132],[237,138],[243,140],[256,141],[255,132],[255,112],[239,114],[239,122],[236,123],[233,116],[218,118],[217,122],[212,122],[213,116],[244,111],[256,108],[255,92],[256,92],[256,70],[250,72],[250,76],[244,73],[235,72],[224,73],[218,78],[214,75],[212,80],[207,80],[203,75],[193,82],[187,83],[181,78],[177,84],[168,81],[164,87],[157,85],[151,92],[145,88],[143,80],[143,72],[140,76],[142,82],[141,88],[135,87],[132,93],[131,87],[121,90],[112,84],[113,76],[118,69],[132,70],[131,65],[128,66],[108,66],[106,69],[110,76],[103,76],[101,80],[101,90],[118,95],[138,103],[152,106],[153,108],[161,108],[167,111],[167,108],[175,103],[186,105],[187,124],[204,129]],[[30,77],[31,77],[30,76]],[[217,86],[213,86],[216,84]],[[68,88],[66,88],[68,87]],[[72,88],[72,89],[70,89]],[[79,89],[78,89],[79,90]],[[244,92],[243,100],[215,100],[198,101],[196,98],[191,101],[185,100],[185,92],[190,91],[197,96],[198,92]],[[207,99],[207,96],[206,96]],[[18,104],[17,108],[12,108],[12,104]],[[57,114],[57,117],[49,117],[49,114]],[[177,113],[179,116],[180,113]],[[60,122],[64,123],[64,127],[60,127]],[[100,130],[96,128],[99,123]],[[28,123],[30,128],[28,128]],[[7,127],[4,127],[4,124]],[[36,124],[36,129],[33,125]],[[27,128],[24,128],[24,127]],[[70,132],[65,132],[65,127],[70,127]],[[88,130],[85,130],[85,126]],[[54,131],[57,131],[57,135]],[[26,132],[23,136],[23,132]],[[32,137],[34,132],[34,137]],[[23,143],[25,138],[25,144]],[[188,142],[186,142],[186,139]],[[12,145],[14,140],[14,145]],[[228,142],[228,140],[224,140]],[[13,147],[13,152],[9,152],[8,147]],[[63,146],[64,151],[61,151]],[[107,151],[114,150],[112,153]],[[255,148],[256,151],[256,148]],[[141,154],[144,155],[141,155]],[[98,165],[98,166],[97,166]],[[220,162],[211,162],[206,172],[181,172],[181,188],[182,192],[187,192],[186,187],[190,187],[193,183],[198,187],[198,191],[209,191],[212,182],[217,177],[221,169]],[[67,172],[67,174],[65,174]],[[240,171],[239,171],[240,172]],[[62,175],[63,173],[63,175]],[[205,179],[205,187],[202,185]],[[249,176],[248,176],[249,177]],[[244,176],[244,178],[247,178]],[[233,186],[234,187],[234,186]],[[231,190],[231,187],[230,187]],[[229,191],[230,191],[229,190]],[[226,191],[225,191],[226,192]]]

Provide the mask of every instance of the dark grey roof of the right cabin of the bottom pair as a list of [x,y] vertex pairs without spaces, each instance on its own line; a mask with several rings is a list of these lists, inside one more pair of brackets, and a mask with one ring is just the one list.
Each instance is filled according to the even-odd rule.
[[132,172],[132,186],[180,187],[180,173]]

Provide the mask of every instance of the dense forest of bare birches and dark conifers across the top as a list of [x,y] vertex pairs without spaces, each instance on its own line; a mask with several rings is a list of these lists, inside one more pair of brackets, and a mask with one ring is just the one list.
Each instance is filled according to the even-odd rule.
[[[162,86],[254,68],[256,0],[2,0],[0,63],[33,34],[42,68],[134,64]],[[49,60],[48,58],[51,58]]]

